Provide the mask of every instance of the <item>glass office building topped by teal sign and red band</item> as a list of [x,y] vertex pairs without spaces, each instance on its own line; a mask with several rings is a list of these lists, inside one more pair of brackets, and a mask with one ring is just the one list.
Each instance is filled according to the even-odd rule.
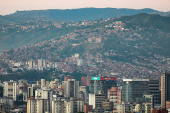
[[90,93],[98,94],[102,91],[107,97],[107,90],[116,86],[116,77],[91,77]]

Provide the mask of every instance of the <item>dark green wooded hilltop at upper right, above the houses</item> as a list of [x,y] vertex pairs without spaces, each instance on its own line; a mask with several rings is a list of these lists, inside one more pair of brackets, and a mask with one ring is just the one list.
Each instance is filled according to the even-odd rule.
[[156,14],[140,13],[134,16],[123,16],[119,19],[126,23],[126,28],[153,28],[165,32],[170,32],[170,17]]

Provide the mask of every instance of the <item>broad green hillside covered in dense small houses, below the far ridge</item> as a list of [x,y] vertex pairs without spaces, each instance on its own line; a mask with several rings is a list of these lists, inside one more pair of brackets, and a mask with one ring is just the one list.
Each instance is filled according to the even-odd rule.
[[[1,49],[29,46],[0,52],[0,68],[42,58],[49,67],[57,65],[64,73],[94,76],[100,71],[105,76],[119,73],[118,78],[159,79],[170,67],[169,21],[170,17],[141,13],[94,21],[4,25],[0,29]],[[78,66],[77,54],[85,61],[83,66]]]

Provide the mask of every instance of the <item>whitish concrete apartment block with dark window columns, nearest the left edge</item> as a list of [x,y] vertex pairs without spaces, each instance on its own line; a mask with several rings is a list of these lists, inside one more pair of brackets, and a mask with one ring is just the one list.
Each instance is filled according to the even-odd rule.
[[10,80],[4,82],[4,87],[3,87],[3,96],[4,97],[9,97],[16,101],[17,99],[17,82]]

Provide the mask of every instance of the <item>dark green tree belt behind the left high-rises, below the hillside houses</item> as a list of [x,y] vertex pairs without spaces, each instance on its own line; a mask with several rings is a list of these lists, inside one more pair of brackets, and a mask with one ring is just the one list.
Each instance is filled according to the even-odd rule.
[[[59,77],[59,75],[63,75]],[[74,79],[81,81],[82,76],[87,76],[81,72],[73,72],[73,73],[62,73],[61,71],[57,71],[56,69],[49,70],[25,70],[24,72],[13,72],[8,75],[0,75],[1,81],[9,81],[9,80],[20,80],[26,79],[28,81],[38,81],[40,79],[45,80],[54,80],[55,78],[64,80],[64,76],[72,75]],[[1,92],[1,91],[0,91]],[[22,96],[20,96],[22,97]]]

